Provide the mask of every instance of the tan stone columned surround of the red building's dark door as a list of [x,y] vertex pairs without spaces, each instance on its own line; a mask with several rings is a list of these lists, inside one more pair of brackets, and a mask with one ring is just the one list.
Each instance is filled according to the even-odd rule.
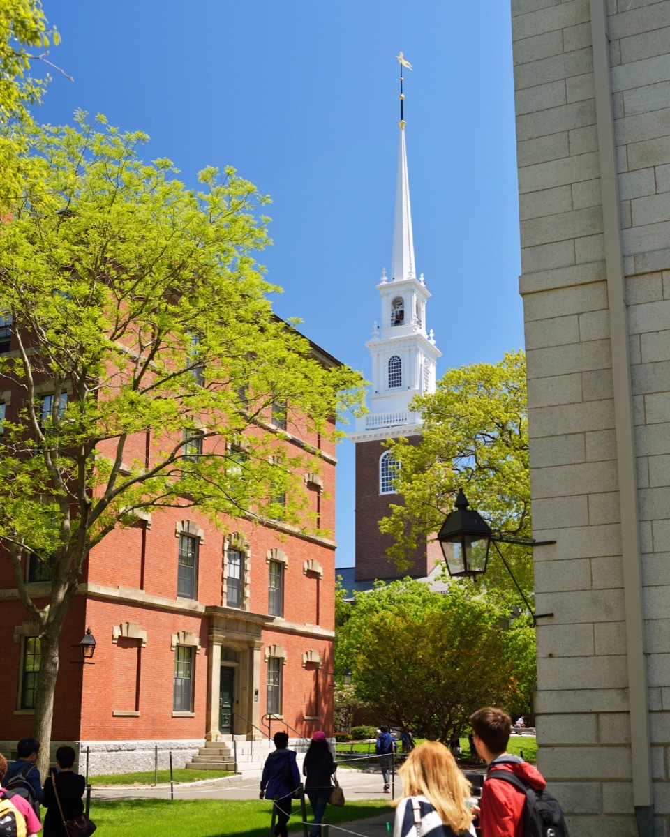
[[[206,741],[221,741],[219,730],[219,691],[223,646],[235,650],[235,696],[233,733],[255,737],[260,735],[260,649],[261,632],[274,617],[218,605],[205,608],[209,616],[207,655],[207,732]],[[223,660],[223,665],[226,665]],[[256,698],[256,699],[255,699]],[[243,720],[246,719],[246,720]]]

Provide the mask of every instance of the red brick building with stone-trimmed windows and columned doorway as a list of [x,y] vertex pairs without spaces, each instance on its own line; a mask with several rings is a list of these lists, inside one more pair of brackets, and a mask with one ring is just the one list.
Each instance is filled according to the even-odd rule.
[[[334,531],[334,443],[291,419],[277,429],[281,444],[319,450],[320,473],[304,475],[308,511]],[[162,510],[112,531],[85,562],[60,638],[52,734],[54,747],[80,747],[82,770],[86,747],[91,773],[152,768],[154,746],[180,766],[205,741],[260,737],[268,715],[272,732],[294,738],[332,732],[335,542],[281,521],[228,522],[224,536],[194,509]],[[10,755],[31,733],[39,639],[8,557],[0,567],[0,750]],[[49,593],[41,569],[23,567],[38,605]],[[95,665],[80,664],[88,626]]]

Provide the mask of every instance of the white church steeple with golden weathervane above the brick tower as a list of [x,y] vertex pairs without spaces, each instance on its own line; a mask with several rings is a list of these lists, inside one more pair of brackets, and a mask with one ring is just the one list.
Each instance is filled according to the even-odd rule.
[[[410,66],[402,53],[397,57],[402,66]],[[356,430],[350,434],[354,442],[420,434],[420,415],[410,411],[409,404],[419,393],[435,392],[435,362],[441,357],[433,332],[425,328],[425,304],[430,293],[423,274],[417,279],[415,273],[402,82],[401,75],[391,274],[387,276],[384,270],[377,285],[381,320],[379,326],[375,322],[372,339],[365,344],[372,358],[370,412],[357,419]]]

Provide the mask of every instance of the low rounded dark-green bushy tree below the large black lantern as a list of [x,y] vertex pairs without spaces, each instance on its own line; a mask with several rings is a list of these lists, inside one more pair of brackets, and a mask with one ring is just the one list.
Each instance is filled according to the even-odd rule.
[[380,721],[447,743],[480,706],[524,705],[534,631],[508,617],[502,597],[460,583],[446,594],[409,578],[378,583],[338,629],[336,669],[350,660],[354,696]]

